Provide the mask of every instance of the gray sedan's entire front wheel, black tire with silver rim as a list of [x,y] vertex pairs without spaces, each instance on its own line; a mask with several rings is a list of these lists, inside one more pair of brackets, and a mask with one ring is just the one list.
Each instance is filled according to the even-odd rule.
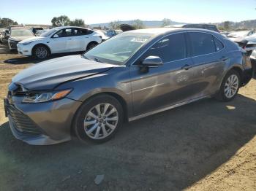
[[90,98],[80,106],[73,128],[80,141],[102,143],[116,134],[123,120],[124,111],[119,101],[111,95],[102,94]]

